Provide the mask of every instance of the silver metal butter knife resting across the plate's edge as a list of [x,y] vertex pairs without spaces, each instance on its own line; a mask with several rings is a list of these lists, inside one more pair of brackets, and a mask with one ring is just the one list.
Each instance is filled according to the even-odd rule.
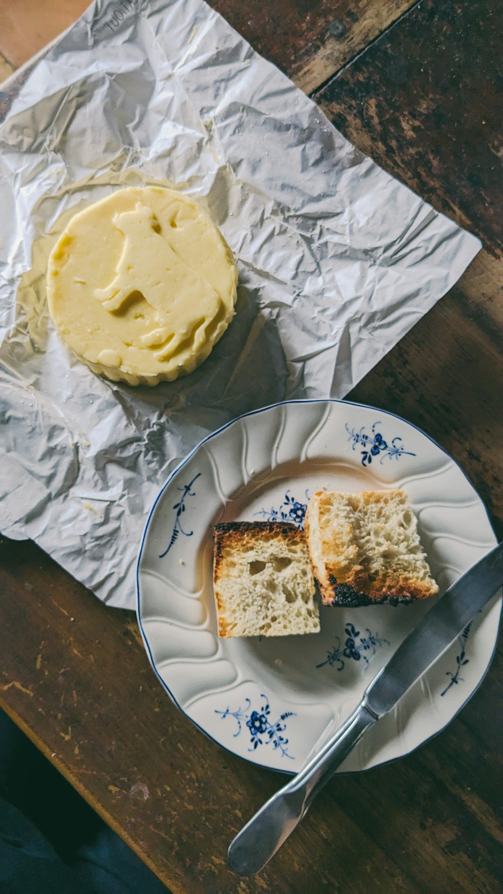
[[363,734],[395,707],[502,585],[503,543],[449,586],[372,680],[354,713],[236,835],[227,854],[235,873],[260,872]]

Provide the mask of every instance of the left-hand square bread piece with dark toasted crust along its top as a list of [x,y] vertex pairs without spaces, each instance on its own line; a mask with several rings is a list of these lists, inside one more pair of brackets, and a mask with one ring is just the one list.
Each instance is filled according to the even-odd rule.
[[219,637],[319,633],[303,532],[280,521],[215,526],[213,587]]

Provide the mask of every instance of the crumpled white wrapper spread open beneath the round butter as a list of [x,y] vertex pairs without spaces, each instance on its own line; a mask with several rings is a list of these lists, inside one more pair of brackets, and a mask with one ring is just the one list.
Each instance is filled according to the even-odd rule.
[[[237,315],[192,375],[132,388],[72,356],[45,270],[75,209],[166,182],[237,258]],[[343,397],[446,292],[472,235],[348,143],[201,0],[98,0],[0,127],[0,530],[132,608],[149,508],[244,411]]]

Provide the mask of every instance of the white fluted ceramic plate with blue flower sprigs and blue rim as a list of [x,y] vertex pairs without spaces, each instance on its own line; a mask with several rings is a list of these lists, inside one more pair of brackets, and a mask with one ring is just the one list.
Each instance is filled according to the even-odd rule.
[[[218,639],[212,527],[233,519],[302,526],[310,493],[404,487],[443,592],[496,543],[478,494],[447,453],[404,419],[345,401],[292,401],[239,417],[169,477],[138,561],[138,620],[175,704],[253,763],[297,772],[344,720],[424,603],[320,608],[321,632]],[[480,684],[496,644],[496,596],[447,654],[342,764],[367,769],[442,730]]]

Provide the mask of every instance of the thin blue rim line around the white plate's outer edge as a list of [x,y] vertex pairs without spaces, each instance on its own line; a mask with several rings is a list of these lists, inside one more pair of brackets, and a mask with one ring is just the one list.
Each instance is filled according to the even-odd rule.
[[[153,512],[154,512],[154,510],[156,509],[156,506],[158,505],[158,502],[159,502],[161,496],[162,496],[163,493],[165,492],[167,485],[169,485],[170,481],[172,480],[172,478],[175,477],[176,473],[179,472],[181,468],[183,468],[183,466],[185,465],[185,463],[187,463],[189,460],[192,459],[192,456],[194,455],[194,453],[195,453],[196,451],[198,451],[198,450],[200,449],[200,447],[202,447],[203,444],[205,444],[205,443],[207,443],[208,441],[210,441],[211,438],[214,438],[217,434],[221,434],[222,432],[225,432],[225,431],[226,431],[226,428],[229,428],[230,426],[234,426],[234,423],[235,423],[235,422],[239,422],[240,419],[245,419],[245,418],[248,418],[248,417],[251,417],[251,416],[256,416],[258,413],[263,413],[263,412],[265,412],[265,411],[268,410],[268,409],[275,409],[276,407],[284,407],[284,406],[286,406],[286,404],[303,404],[303,403],[305,403],[305,404],[309,404],[309,403],[338,403],[338,404],[346,405],[346,406],[349,406],[349,407],[360,407],[361,409],[371,409],[371,410],[374,410],[376,413],[384,413],[384,414],[386,414],[387,416],[393,417],[393,418],[395,418],[395,419],[399,419],[399,421],[400,421],[400,422],[404,422],[406,426],[411,426],[412,428],[414,428],[414,429],[416,430],[416,432],[419,432],[420,434],[424,435],[425,438],[427,438],[432,444],[434,444],[435,447],[438,447],[438,448],[439,448],[439,451],[441,451],[445,456],[448,457],[449,460],[451,460],[451,462],[453,462],[453,463],[455,464],[456,468],[459,469],[459,471],[460,471],[461,474],[465,477],[465,479],[466,479],[466,481],[468,482],[468,484],[472,487],[473,492],[477,495],[477,497],[478,497],[479,500],[481,501],[482,506],[483,506],[483,509],[484,509],[484,511],[485,511],[485,513],[486,513],[487,519],[488,519],[489,524],[490,524],[490,529],[491,529],[491,531],[492,531],[492,533],[493,533],[493,535],[494,535],[494,538],[495,538],[495,545],[498,543],[498,538],[497,538],[497,536],[496,536],[496,533],[495,533],[495,531],[494,531],[494,528],[492,527],[492,524],[491,524],[491,521],[490,521],[490,515],[489,515],[488,510],[486,509],[485,503],[482,501],[482,497],[480,496],[480,494],[478,493],[478,491],[476,490],[476,488],[473,486],[472,481],[470,480],[470,478],[466,475],[465,470],[464,470],[463,468],[461,468],[461,466],[459,465],[459,463],[457,463],[456,460],[454,460],[454,459],[452,458],[452,456],[450,455],[450,453],[448,453],[447,451],[445,451],[443,447],[440,447],[439,443],[437,443],[437,441],[435,441],[434,438],[432,438],[432,437],[430,436],[430,434],[426,434],[426,432],[423,432],[423,431],[422,431],[422,428],[419,428],[419,426],[414,426],[413,422],[408,422],[408,420],[405,419],[403,416],[398,416],[396,413],[392,413],[392,412],[391,412],[390,410],[388,410],[388,409],[379,409],[379,407],[373,407],[373,406],[371,406],[371,404],[368,404],[368,403],[358,403],[357,401],[343,401],[343,400],[340,400],[340,399],[338,399],[338,398],[333,398],[333,397],[327,397],[327,398],[303,398],[303,399],[298,399],[298,400],[294,400],[294,401],[278,401],[277,403],[271,403],[271,404],[269,404],[267,407],[260,407],[260,409],[252,409],[252,410],[250,410],[250,412],[248,412],[248,413],[242,413],[241,416],[236,416],[236,417],[234,417],[234,419],[231,419],[230,422],[226,422],[226,425],[225,425],[225,426],[221,426],[220,428],[217,428],[217,431],[212,432],[211,434],[208,434],[205,438],[203,438],[202,441],[200,441],[199,443],[197,443],[197,444],[195,445],[195,447],[192,448],[192,451],[191,451],[190,453],[188,453],[187,456],[186,456],[186,457],[185,457],[185,458],[178,464],[178,466],[176,466],[176,468],[174,468],[173,471],[170,473],[169,477],[166,479],[165,484],[161,487],[161,489],[160,489],[160,491],[159,491],[159,493],[158,493],[158,495],[157,495],[157,497],[156,497],[156,499],[155,499],[155,501],[154,501],[154,503],[153,503],[153,506],[152,506],[151,510],[149,511],[149,518],[147,519],[147,522],[146,522],[146,524],[145,524],[145,528],[144,528],[144,530],[143,530],[143,535],[141,536],[140,552],[138,553],[138,561],[137,561],[137,563],[136,563],[136,618],[137,618],[137,620],[138,620],[138,626],[139,626],[139,628],[140,628],[141,639],[143,640],[143,645],[145,646],[145,650],[146,650],[146,652],[147,652],[147,654],[148,654],[148,656],[149,656],[150,666],[151,666],[152,670],[154,671],[154,673],[156,674],[156,677],[158,678],[158,680],[159,680],[161,686],[163,687],[163,689],[165,689],[167,695],[171,698],[172,702],[176,705],[176,707],[178,708],[178,710],[179,710],[181,713],[183,713],[183,715],[187,718],[187,720],[191,721],[191,723],[193,724],[193,726],[195,726],[198,730],[200,730],[200,732],[202,732],[203,735],[206,736],[206,738],[209,738],[209,739],[210,739],[212,742],[214,742],[218,747],[223,748],[224,751],[226,751],[229,755],[233,755],[234,757],[241,757],[241,755],[236,755],[235,752],[234,752],[234,751],[231,751],[230,748],[227,748],[225,745],[222,745],[221,742],[218,742],[216,738],[213,738],[213,736],[210,736],[209,733],[208,733],[206,730],[203,730],[203,728],[200,726],[199,723],[197,723],[196,721],[192,720],[192,717],[190,717],[185,711],[183,711],[183,707],[181,706],[181,704],[179,704],[179,702],[177,702],[177,700],[176,700],[174,694],[172,693],[171,689],[166,685],[164,679],[162,679],[162,677],[160,676],[160,674],[159,674],[159,672],[158,672],[158,669],[157,669],[156,664],[155,664],[155,662],[154,662],[152,653],[151,653],[151,651],[150,651],[149,642],[148,642],[148,640],[147,640],[147,637],[145,636],[145,632],[144,632],[143,627],[142,627],[142,625],[141,625],[141,611],[140,611],[140,562],[141,562],[141,553],[143,552],[143,546],[144,546],[144,544],[145,544],[145,537],[147,536],[147,531],[148,531],[148,529],[149,529],[150,519],[152,518]],[[431,742],[431,739],[432,739],[432,738],[435,738],[436,736],[439,736],[439,733],[443,732],[443,730],[446,730],[446,729],[448,728],[449,723],[452,723],[452,721],[455,720],[455,718],[457,717],[457,715],[458,715],[461,711],[463,711],[465,705],[468,704],[468,702],[470,701],[470,699],[475,695],[475,693],[477,692],[477,690],[479,689],[479,687],[482,685],[484,679],[486,678],[486,676],[487,676],[487,674],[488,674],[488,672],[489,672],[489,670],[490,670],[490,665],[491,665],[491,663],[492,663],[492,659],[494,658],[494,653],[496,652],[496,647],[497,647],[497,645],[498,645],[499,628],[500,628],[500,624],[501,624],[501,609],[502,609],[502,607],[503,607],[503,599],[502,599],[501,597],[499,597],[499,602],[500,602],[500,606],[499,606],[498,631],[497,631],[496,641],[495,641],[494,647],[493,647],[493,649],[492,649],[492,652],[491,652],[491,654],[490,654],[490,660],[489,660],[489,663],[488,663],[488,665],[487,665],[487,667],[486,667],[486,670],[483,672],[481,679],[479,680],[479,682],[477,683],[477,685],[474,687],[474,689],[472,690],[472,692],[470,693],[470,695],[465,699],[465,702],[463,702],[463,704],[458,708],[458,710],[456,711],[456,713],[454,713],[454,714],[452,715],[452,717],[448,720],[448,722],[445,724],[445,726],[443,726],[440,730],[437,730],[436,732],[432,733],[431,736],[429,736],[428,738],[423,739],[423,741],[422,741],[419,745],[414,746],[413,748],[411,748],[410,751],[405,752],[405,755],[399,755],[399,756],[397,756],[397,757],[391,757],[391,758],[388,759],[388,761],[382,761],[381,763],[376,764],[375,767],[367,767],[367,768],[364,768],[363,770],[347,770],[347,771],[345,771],[345,772],[343,772],[343,773],[338,773],[337,775],[349,775],[349,774],[351,774],[351,773],[355,773],[355,772],[370,772],[371,770],[375,770],[378,766],[381,767],[381,766],[385,766],[385,765],[388,764],[388,763],[393,763],[394,761],[398,761],[398,760],[400,760],[402,757],[407,757],[408,755],[412,755],[414,751],[417,751],[418,748],[421,748],[423,745],[426,745],[427,742]],[[241,759],[242,759],[242,760],[246,760],[246,758],[243,758],[243,757],[241,757]],[[260,763],[260,764],[255,764],[255,765],[256,765],[256,766],[261,766],[261,767],[263,767],[264,770],[272,770],[273,772],[286,773],[286,775],[288,775],[288,776],[294,776],[294,775],[296,775],[296,773],[297,773],[297,771],[286,770],[286,769],[282,769],[282,768],[280,768],[280,767],[269,767],[269,766],[268,766],[267,764],[265,764],[265,763]]]

